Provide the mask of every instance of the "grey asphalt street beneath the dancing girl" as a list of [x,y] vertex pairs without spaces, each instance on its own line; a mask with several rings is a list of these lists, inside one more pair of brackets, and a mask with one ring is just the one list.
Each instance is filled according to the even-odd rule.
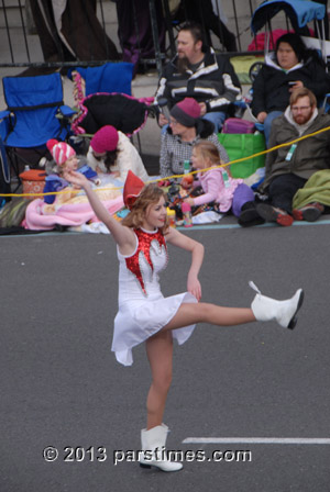
[[[276,299],[299,287],[306,297],[293,332],[200,325],[175,347],[165,422],[167,448],[186,457],[178,473],[141,469],[129,452],[140,449],[150,371],[143,346],[129,368],[110,350],[111,236],[1,237],[1,492],[329,491],[329,221],[187,234],[206,246],[204,301],[250,305],[249,280]],[[188,267],[170,247],[165,294],[186,290]]]

